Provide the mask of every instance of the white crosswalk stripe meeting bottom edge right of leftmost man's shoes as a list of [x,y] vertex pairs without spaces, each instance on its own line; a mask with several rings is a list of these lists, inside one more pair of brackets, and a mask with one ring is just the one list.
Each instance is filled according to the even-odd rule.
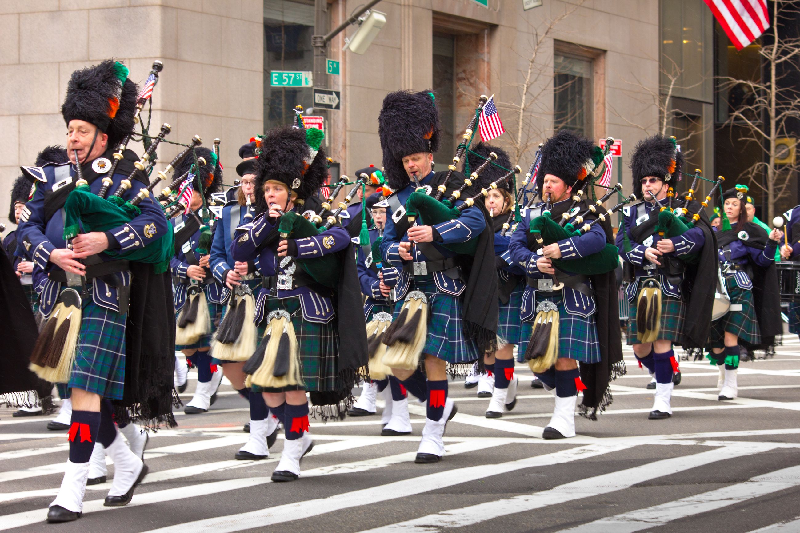
[[481,464],[474,467],[454,468],[434,474],[420,475],[411,479],[403,479],[394,483],[386,483],[377,487],[369,487],[358,491],[344,492],[328,498],[311,499],[302,502],[287,503],[275,507],[267,507],[258,511],[239,513],[236,515],[221,516],[213,519],[197,520],[175,526],[162,527],[150,533],[185,533],[185,531],[203,532],[230,532],[267,527],[276,523],[290,520],[304,519],[329,512],[341,511],[350,507],[360,507],[390,499],[403,498],[410,495],[435,491],[444,487],[452,487],[461,483],[469,483],[493,475],[502,475],[522,468],[551,466],[558,463],[568,463],[575,460],[587,459],[597,455],[605,455],[612,451],[622,451],[631,444],[590,444],[588,446],[570,448],[569,450],[556,451],[546,455],[537,455],[525,459],[509,461],[499,464]]

